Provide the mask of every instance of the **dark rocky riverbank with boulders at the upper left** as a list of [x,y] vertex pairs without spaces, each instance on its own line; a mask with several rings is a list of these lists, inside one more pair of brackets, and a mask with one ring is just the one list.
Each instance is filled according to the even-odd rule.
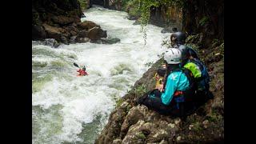
[[82,15],[77,0],[32,1],[32,40],[54,38],[65,44],[108,42],[108,39],[101,41],[101,38],[107,37],[106,30],[94,22],[81,22]]

